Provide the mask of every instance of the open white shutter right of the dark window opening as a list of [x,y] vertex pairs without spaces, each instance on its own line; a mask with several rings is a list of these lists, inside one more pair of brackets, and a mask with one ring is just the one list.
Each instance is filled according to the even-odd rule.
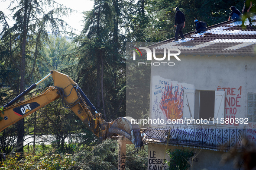
[[224,118],[225,91],[215,91],[214,120]]

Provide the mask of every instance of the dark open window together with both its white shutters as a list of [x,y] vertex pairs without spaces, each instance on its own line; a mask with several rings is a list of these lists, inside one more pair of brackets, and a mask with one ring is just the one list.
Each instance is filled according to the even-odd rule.
[[185,89],[183,94],[183,119],[224,118],[225,91]]

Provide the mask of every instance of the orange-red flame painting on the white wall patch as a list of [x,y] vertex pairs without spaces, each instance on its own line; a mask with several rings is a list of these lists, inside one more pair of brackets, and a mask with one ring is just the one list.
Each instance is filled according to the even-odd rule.
[[161,110],[167,119],[181,119],[183,116],[183,87],[165,85],[163,89],[160,104]]

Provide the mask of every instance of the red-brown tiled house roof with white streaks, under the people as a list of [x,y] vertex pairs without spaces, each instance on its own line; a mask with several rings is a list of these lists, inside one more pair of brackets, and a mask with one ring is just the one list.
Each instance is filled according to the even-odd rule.
[[246,19],[245,28],[241,21],[226,21],[207,27],[207,31],[185,34],[185,40],[172,42],[174,38],[149,46],[155,48],[156,53],[162,53],[164,48],[178,48],[181,54],[217,54],[217,55],[249,55],[256,53],[256,16],[251,17],[253,25]]

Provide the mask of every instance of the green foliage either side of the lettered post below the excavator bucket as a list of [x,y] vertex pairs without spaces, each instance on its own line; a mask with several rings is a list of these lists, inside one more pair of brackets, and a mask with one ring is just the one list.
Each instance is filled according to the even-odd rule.
[[[126,169],[147,169],[147,146],[145,150],[135,150],[134,145],[126,145]],[[75,169],[83,170],[117,170],[118,169],[118,144],[116,140],[106,140],[94,146],[93,150],[83,150],[74,154]]]

